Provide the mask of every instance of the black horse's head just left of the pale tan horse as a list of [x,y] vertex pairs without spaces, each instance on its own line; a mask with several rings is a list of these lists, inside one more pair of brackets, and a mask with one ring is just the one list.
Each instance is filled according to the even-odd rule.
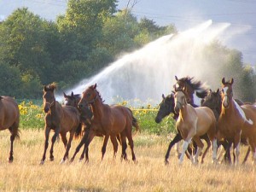
[[173,94],[170,94],[168,96],[164,96],[162,94],[162,102],[160,102],[160,108],[159,111],[155,117],[155,122],[160,123],[162,119],[164,119],[166,116],[168,116],[170,113],[173,113],[173,119],[177,118],[177,113],[174,111],[174,96]]

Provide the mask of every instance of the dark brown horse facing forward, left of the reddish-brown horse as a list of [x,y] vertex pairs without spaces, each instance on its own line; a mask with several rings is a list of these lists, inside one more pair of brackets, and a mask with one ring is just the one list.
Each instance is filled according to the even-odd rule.
[[[65,162],[68,158],[68,152],[71,148],[73,137],[77,138],[81,135],[80,115],[79,110],[73,106],[62,106],[59,102],[55,101],[54,91],[56,89],[55,84],[44,85],[44,154],[40,161],[43,165],[46,157],[46,150],[49,145],[49,131],[55,131],[54,136],[51,139],[51,148],[49,160],[54,160],[53,149],[56,137],[60,134],[62,143],[64,144],[66,151],[61,160],[61,163]],[[67,132],[69,132],[69,139],[67,142]]]

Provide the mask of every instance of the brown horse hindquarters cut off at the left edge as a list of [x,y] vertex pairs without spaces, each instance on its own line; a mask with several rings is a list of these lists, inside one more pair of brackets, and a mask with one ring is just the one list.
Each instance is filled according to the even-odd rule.
[[10,136],[10,152],[9,162],[14,160],[14,141],[15,137],[19,137],[20,111],[18,104],[10,96],[0,96],[0,130],[9,129]]

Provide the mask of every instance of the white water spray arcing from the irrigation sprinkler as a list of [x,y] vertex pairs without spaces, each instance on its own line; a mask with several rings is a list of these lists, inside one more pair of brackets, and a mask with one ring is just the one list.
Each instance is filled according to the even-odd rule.
[[[229,26],[229,23],[212,24],[212,20],[207,20],[176,35],[161,37],[142,49],[120,57],[102,72],[83,79],[66,93],[73,91],[80,94],[88,86],[97,84],[105,103],[113,104],[113,97],[119,96],[124,100],[139,99],[154,104],[160,102],[162,93],[171,93],[175,75],[178,78],[195,77],[212,90],[217,89],[221,79],[216,79],[214,72],[218,66],[207,61],[203,50],[212,41],[230,41],[230,36],[229,39],[222,38]],[[57,99],[62,97],[57,96]]]

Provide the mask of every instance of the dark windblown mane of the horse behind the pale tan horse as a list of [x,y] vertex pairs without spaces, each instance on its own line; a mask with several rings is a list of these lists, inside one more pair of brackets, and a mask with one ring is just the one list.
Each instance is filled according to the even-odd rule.
[[178,79],[179,81],[185,82],[185,84],[189,85],[192,90],[195,90],[196,96],[200,98],[204,98],[208,94],[208,89],[201,83],[199,80],[195,80],[194,77],[189,78],[189,76]]

